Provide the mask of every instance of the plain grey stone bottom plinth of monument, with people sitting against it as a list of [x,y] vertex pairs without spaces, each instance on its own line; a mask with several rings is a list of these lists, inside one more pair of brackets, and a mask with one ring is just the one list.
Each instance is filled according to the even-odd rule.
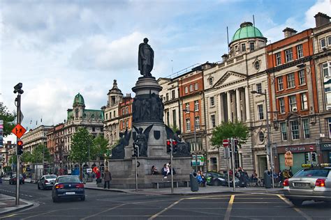
[[[138,188],[152,188],[152,182],[170,181],[171,175],[168,178],[163,178],[161,171],[164,164],[170,162],[168,159],[160,157],[140,157],[138,158],[140,166],[138,167]],[[135,189],[135,159],[110,159],[110,173],[112,173],[112,181],[110,187],[117,189]],[[159,175],[152,175],[152,166],[156,166]],[[184,185],[184,181],[189,181],[189,174],[192,171],[191,157],[176,157],[172,158],[172,167],[175,169],[173,180]],[[115,178],[116,177],[116,178]]]

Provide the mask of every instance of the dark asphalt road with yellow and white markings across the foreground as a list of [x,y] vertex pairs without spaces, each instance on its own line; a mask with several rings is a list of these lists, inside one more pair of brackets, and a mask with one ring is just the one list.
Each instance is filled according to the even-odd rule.
[[[15,185],[3,182],[0,193],[15,196]],[[21,198],[36,203],[0,219],[331,219],[331,206],[304,202],[293,207],[277,194],[154,196],[86,190],[86,201],[53,203],[52,191],[21,184]]]

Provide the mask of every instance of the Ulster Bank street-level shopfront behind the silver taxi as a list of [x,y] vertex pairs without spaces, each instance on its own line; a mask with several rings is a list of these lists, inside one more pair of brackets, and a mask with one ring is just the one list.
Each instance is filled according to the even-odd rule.
[[[278,159],[279,159],[279,170],[283,171],[284,169],[290,169],[292,173],[300,171],[302,164],[307,164],[309,162],[309,153],[311,152],[310,147],[313,147],[313,152],[316,152],[316,145],[302,145],[302,146],[284,146],[278,147]],[[285,166],[285,153],[286,151],[292,152],[293,155],[293,166]]]

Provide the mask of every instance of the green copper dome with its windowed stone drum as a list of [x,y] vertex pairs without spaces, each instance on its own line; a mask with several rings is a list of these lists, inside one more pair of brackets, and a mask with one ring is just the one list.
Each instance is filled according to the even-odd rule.
[[251,22],[240,24],[240,29],[235,31],[233,38],[229,44],[230,57],[237,54],[253,52],[256,49],[265,47],[267,38],[263,36],[261,31],[257,29]]

